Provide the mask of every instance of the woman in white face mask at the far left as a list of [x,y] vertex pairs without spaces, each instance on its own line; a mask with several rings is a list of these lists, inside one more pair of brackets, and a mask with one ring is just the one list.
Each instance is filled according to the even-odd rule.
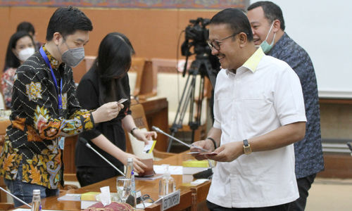
[[11,108],[12,87],[15,72],[34,53],[34,41],[27,32],[15,32],[8,41],[1,90],[6,108]]

